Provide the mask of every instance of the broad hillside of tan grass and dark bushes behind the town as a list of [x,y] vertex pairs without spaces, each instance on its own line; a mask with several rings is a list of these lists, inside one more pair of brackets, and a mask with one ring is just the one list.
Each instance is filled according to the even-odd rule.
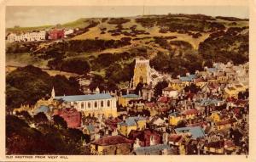
[[[52,26],[45,28],[49,27]],[[81,60],[81,64],[89,64],[91,73],[122,82],[131,79],[132,70],[127,69],[137,56],[151,59],[150,64],[156,70],[172,75],[193,73],[205,65],[211,66],[213,61],[235,64],[248,61],[248,20],[245,19],[167,14],[82,18],[58,27],[79,28],[83,32],[62,42],[7,43],[7,64],[33,64],[81,74],[78,68],[69,68],[71,63]],[[34,29],[42,29],[42,26],[7,31]],[[119,67],[114,76],[106,73],[116,69],[113,66]],[[119,70],[131,73],[118,78]]]

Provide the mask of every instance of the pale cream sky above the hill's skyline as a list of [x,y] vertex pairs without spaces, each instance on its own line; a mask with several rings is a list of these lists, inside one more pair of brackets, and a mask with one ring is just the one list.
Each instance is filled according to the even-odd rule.
[[248,18],[246,6],[8,6],[6,27],[63,24],[79,18],[129,17],[144,14],[207,14]]

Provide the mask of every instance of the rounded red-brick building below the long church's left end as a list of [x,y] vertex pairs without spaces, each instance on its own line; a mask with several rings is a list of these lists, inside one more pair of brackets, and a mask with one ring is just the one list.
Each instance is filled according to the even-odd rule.
[[55,109],[54,115],[60,115],[67,122],[68,128],[81,127],[81,113],[77,109]]

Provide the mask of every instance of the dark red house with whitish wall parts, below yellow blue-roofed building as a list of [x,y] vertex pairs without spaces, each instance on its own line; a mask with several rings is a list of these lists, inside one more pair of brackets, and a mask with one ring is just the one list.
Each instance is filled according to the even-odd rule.
[[135,141],[134,148],[147,147],[161,143],[160,132],[149,129],[143,131],[131,130],[128,138]]

